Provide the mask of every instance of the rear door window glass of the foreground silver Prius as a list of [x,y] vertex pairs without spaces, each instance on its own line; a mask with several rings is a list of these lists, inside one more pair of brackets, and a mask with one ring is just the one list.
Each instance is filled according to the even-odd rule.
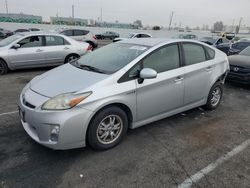
[[205,51],[201,45],[184,43],[183,51],[185,54],[186,65],[193,65],[206,61]]

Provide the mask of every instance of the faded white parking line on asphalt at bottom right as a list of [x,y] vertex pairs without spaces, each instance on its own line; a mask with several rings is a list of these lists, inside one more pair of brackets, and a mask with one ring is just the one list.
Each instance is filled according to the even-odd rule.
[[217,166],[232,158],[234,155],[240,153],[250,145],[250,139],[246,140],[239,146],[235,147],[232,151],[228,152],[226,155],[220,157],[215,162],[209,164],[207,167],[203,168],[196,174],[192,175],[190,178],[186,179],[182,184],[178,185],[178,188],[190,188],[194,183],[198,182],[200,179],[205,177],[206,174],[213,171]]

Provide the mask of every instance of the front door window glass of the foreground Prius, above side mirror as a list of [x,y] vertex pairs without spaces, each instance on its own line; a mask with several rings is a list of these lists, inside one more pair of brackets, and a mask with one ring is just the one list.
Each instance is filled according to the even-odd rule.
[[179,65],[177,44],[161,48],[143,60],[144,68],[152,68],[158,73],[178,68]]

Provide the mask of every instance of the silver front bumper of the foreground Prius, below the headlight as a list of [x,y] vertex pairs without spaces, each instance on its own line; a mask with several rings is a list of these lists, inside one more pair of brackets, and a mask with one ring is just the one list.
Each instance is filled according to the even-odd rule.
[[[35,104],[43,104],[46,100],[48,98],[31,90],[25,92],[25,100],[23,94],[20,95],[19,114],[28,135],[39,144],[52,149],[84,147],[87,126],[93,112],[79,107],[63,111],[44,111],[40,109],[41,105],[37,107]],[[51,130],[55,126],[59,126],[58,140],[52,141]]]

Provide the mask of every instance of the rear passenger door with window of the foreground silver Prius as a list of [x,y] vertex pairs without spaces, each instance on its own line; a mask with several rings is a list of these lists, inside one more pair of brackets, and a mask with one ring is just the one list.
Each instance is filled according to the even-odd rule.
[[182,52],[185,61],[184,105],[204,102],[210,90],[215,62],[208,58],[209,54],[200,44],[182,43]]

